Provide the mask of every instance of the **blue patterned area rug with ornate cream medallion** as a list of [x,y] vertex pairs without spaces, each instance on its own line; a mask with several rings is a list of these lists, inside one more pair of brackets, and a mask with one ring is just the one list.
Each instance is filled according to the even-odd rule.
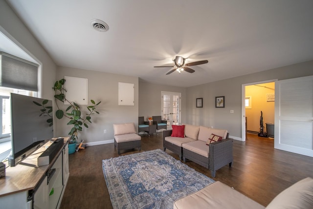
[[160,149],[102,161],[114,209],[173,209],[214,182]]

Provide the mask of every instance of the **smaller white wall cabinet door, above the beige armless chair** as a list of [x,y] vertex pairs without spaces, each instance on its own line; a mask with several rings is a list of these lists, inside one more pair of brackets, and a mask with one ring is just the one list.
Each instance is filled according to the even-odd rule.
[[131,83],[118,83],[118,105],[135,104],[135,85]]

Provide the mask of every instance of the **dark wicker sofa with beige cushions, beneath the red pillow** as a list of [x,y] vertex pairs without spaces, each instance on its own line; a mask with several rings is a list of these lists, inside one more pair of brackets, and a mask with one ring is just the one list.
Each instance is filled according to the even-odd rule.
[[[184,125],[184,137],[172,137],[172,130],[163,131],[163,149],[171,150],[184,162],[191,160],[208,168],[212,177],[216,171],[233,162],[233,139],[228,138],[227,130],[204,126]],[[222,140],[206,145],[211,134],[223,137]]]

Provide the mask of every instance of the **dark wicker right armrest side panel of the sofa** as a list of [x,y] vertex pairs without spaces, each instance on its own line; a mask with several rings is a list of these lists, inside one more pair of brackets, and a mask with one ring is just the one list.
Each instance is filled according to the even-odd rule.
[[209,168],[216,171],[233,162],[233,139],[227,138],[209,145]]

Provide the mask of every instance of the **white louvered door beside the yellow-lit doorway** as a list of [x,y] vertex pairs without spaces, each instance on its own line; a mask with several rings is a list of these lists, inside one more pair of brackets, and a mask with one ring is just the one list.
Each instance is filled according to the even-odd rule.
[[313,157],[313,76],[275,82],[274,147]]

